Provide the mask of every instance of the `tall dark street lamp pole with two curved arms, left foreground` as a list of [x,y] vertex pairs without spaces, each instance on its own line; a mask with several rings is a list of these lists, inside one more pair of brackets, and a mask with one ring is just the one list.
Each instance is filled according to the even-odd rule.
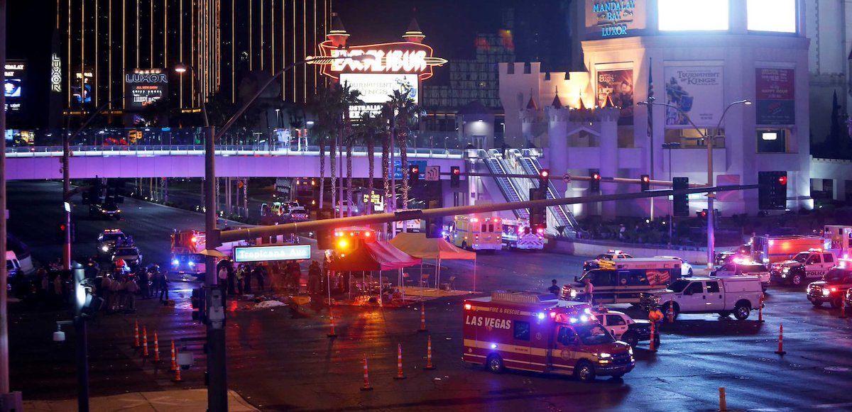
[[[3,0],[0,0],[2,2]],[[225,363],[225,329],[224,325],[224,308],[222,289],[216,288],[218,279],[216,278],[216,256],[222,254],[216,250],[216,247],[221,244],[219,241],[219,231],[216,229],[216,198],[214,191],[216,190],[216,144],[217,137],[222,137],[228,129],[233,126],[233,123],[245,113],[245,110],[257,100],[263,91],[268,88],[278,77],[296,66],[306,65],[314,60],[373,60],[371,54],[362,54],[360,56],[339,56],[339,57],[311,57],[308,56],[305,60],[291,63],[285,68],[276,72],[272,77],[269,77],[266,83],[263,83],[257,88],[254,95],[248,100],[245,100],[243,106],[233,114],[231,118],[222,125],[216,133],[216,129],[210,126],[210,121],[207,117],[207,107],[204,105],[204,95],[201,89],[198,73],[193,66],[187,64],[178,64],[175,66],[175,72],[185,73],[191,72],[195,89],[198,90],[199,104],[201,105],[201,114],[204,117],[204,289],[206,289],[206,302],[208,320],[207,320],[207,374],[209,378],[207,391],[207,408],[209,410],[227,410],[227,364]]]

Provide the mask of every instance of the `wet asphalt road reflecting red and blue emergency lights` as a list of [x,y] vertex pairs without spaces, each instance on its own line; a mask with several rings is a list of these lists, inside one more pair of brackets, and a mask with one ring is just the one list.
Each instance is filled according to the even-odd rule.
[[[55,247],[49,244],[53,237],[43,243],[34,238],[49,231],[43,227],[51,225],[43,209],[53,206],[20,197],[41,198],[51,185],[14,183],[9,189],[12,220],[43,216],[33,220],[32,231],[15,232],[31,245],[34,255]],[[126,210],[125,220],[118,223],[126,226],[119,227],[133,233],[143,253],[155,256],[158,244],[168,251],[163,232],[201,221],[200,215],[147,203]],[[59,213],[55,215],[57,220],[52,221],[58,221]],[[113,224],[86,223],[93,233]],[[481,255],[477,288],[542,290],[550,278],[560,282],[573,278],[582,260],[544,253]],[[469,289],[469,265],[450,263],[442,278],[456,274],[457,288]],[[143,300],[136,314],[147,325],[149,340],[152,329],[158,329],[163,354],[164,340],[204,335],[190,320],[186,286],[176,288],[181,290],[173,291],[175,307]],[[812,307],[801,290],[773,287],[768,296],[766,323],[682,315],[663,328],[659,352],[648,352],[647,342],[640,344],[636,369],[630,374],[590,384],[527,372],[493,375],[462,363],[459,297],[425,304],[429,334],[417,332],[419,306],[335,306],[337,340],[326,337],[327,308],[312,307],[308,316],[294,318],[285,308],[250,311],[245,310],[249,302],[232,301],[227,320],[228,384],[265,410],[716,410],[720,386],[727,390],[728,409],[852,409],[852,319],[838,318],[836,310]],[[74,397],[76,336],[69,332],[68,341],[60,345],[49,341],[55,319],[67,315],[50,308],[27,310],[20,304],[13,304],[11,311],[13,389],[23,391],[26,398]],[[164,369],[130,349],[134,318],[102,316],[91,326],[93,395],[204,385],[199,342],[187,342],[195,364],[183,374],[183,383],[173,383]],[[781,323],[787,352],[783,357],[774,353]],[[435,370],[423,369],[427,335],[434,346]],[[397,344],[404,353],[404,381],[393,379]],[[359,390],[364,356],[375,388],[371,392]]]

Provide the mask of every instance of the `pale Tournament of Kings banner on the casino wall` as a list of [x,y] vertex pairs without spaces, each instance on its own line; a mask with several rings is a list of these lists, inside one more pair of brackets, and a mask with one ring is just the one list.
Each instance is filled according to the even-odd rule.
[[[686,116],[699,127],[716,127],[722,116],[722,66],[666,66],[665,126],[692,128]],[[686,116],[684,116],[686,113]]]

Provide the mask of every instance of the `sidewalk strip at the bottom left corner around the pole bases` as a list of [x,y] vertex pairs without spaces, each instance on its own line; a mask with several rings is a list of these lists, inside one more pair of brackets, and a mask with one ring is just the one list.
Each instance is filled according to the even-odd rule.
[[[89,398],[89,409],[93,411],[131,410],[183,412],[207,410],[206,389],[176,389],[158,392],[130,392],[123,395]],[[237,392],[227,392],[227,409],[231,411],[258,410],[240,397]],[[77,399],[61,401],[24,401],[24,410],[75,411]]]

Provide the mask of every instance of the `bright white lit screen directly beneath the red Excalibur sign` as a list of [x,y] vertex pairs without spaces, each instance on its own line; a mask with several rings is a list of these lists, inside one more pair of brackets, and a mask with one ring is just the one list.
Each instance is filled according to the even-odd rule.
[[349,117],[358,118],[362,112],[378,113],[390,100],[394,90],[407,91],[415,104],[420,103],[420,82],[417,74],[342,73],[340,83],[358,90],[364,105],[350,106]]

